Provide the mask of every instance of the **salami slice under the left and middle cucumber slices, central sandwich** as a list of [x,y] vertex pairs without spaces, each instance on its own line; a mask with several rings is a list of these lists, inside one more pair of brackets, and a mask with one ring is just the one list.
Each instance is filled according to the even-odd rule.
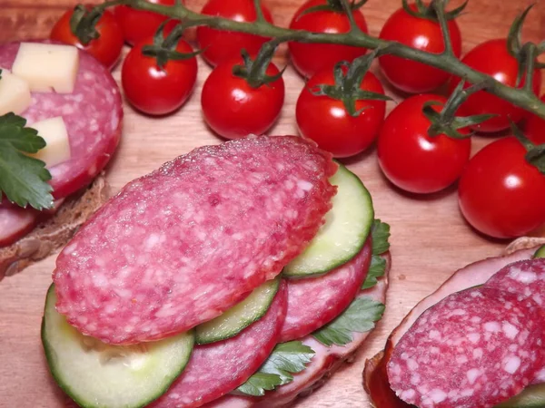
[[286,285],[282,283],[261,320],[223,342],[195,346],[183,374],[150,408],[198,407],[242,385],[276,345],[286,304]]

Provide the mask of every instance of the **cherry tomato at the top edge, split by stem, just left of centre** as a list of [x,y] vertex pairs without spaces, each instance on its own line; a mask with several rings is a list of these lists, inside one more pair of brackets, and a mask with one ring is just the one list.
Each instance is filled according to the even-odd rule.
[[[272,24],[271,12],[262,5],[265,20]],[[238,22],[253,22],[257,18],[253,0],[209,0],[203,7],[203,15],[218,15]],[[258,35],[218,31],[213,28],[199,26],[197,43],[204,60],[212,66],[231,60],[245,49],[249,54],[257,54],[261,46],[270,38]]]

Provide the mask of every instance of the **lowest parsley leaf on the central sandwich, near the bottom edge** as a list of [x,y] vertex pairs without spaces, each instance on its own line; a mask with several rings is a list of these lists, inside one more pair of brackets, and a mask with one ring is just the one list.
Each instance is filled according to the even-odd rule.
[[237,388],[239,393],[262,396],[265,391],[291,383],[293,375],[305,369],[314,356],[314,351],[300,341],[280,343],[260,369]]

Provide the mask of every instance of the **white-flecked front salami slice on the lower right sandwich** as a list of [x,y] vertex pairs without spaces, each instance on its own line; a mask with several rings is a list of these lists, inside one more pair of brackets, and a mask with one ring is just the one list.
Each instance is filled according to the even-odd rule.
[[420,408],[488,408],[533,380],[545,361],[545,324],[530,299],[490,288],[447,296],[395,346],[391,389]]

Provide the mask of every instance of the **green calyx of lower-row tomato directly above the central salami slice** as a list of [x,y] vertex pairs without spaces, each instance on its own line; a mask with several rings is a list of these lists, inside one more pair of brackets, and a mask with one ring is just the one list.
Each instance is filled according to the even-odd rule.
[[250,54],[243,49],[241,51],[243,65],[234,65],[233,75],[242,78],[254,89],[277,81],[282,77],[282,73],[284,73],[286,67],[276,75],[268,75],[267,68],[272,62],[272,56],[274,55],[276,47],[283,41],[282,38],[277,38],[263,44],[255,59],[252,59]]

